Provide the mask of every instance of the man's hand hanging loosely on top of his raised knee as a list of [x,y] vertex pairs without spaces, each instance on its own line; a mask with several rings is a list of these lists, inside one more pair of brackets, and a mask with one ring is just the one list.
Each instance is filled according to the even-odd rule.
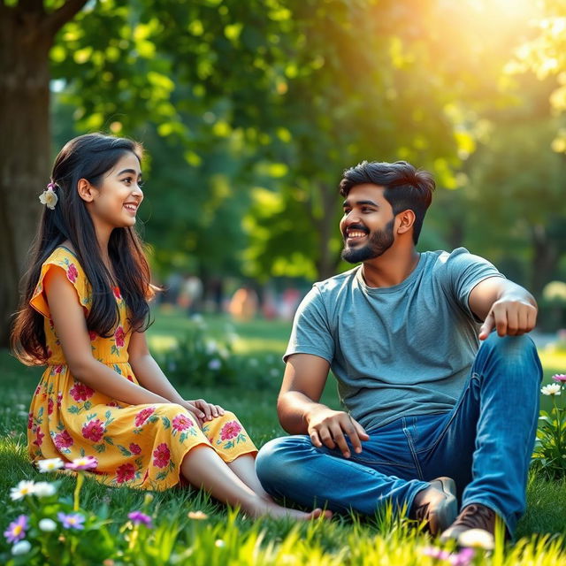
[[537,308],[524,297],[502,297],[493,302],[484,324],[479,329],[479,340],[486,340],[493,328],[500,336],[520,336],[531,332],[537,323]]

